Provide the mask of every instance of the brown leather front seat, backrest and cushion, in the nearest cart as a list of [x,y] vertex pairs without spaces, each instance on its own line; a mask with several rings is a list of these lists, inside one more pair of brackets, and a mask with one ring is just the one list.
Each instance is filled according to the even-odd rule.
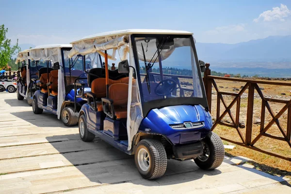
[[127,117],[129,85],[114,83],[109,87],[109,98],[113,100],[114,112],[117,119]]

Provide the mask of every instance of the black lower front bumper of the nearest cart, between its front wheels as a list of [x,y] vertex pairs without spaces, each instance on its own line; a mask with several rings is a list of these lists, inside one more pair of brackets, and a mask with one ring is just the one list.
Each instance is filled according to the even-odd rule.
[[173,146],[173,153],[175,159],[193,159],[203,153],[203,145],[201,142],[181,146],[176,145]]

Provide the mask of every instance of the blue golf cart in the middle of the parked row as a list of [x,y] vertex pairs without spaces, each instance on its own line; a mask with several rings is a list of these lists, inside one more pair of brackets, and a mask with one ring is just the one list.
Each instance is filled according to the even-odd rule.
[[84,69],[85,56],[68,59],[71,48],[71,45],[43,45],[30,49],[29,56],[36,64],[39,77],[39,89],[33,95],[33,113],[46,110],[56,114],[65,126],[78,123],[81,106],[87,102],[85,94],[91,91]]

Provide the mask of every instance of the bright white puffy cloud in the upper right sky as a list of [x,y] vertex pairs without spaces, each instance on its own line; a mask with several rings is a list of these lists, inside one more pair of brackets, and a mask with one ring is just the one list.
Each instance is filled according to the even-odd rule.
[[267,10],[259,15],[258,18],[254,19],[254,22],[263,21],[274,21],[280,20],[285,21],[284,17],[291,15],[291,11],[284,4],[281,4],[280,7],[273,7],[273,10]]

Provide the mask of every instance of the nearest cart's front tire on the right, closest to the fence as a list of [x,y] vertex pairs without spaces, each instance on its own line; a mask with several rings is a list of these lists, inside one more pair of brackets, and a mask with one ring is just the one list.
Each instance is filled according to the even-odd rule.
[[194,159],[197,166],[204,170],[212,170],[221,165],[224,159],[225,150],[220,137],[210,132],[202,141],[203,154]]

